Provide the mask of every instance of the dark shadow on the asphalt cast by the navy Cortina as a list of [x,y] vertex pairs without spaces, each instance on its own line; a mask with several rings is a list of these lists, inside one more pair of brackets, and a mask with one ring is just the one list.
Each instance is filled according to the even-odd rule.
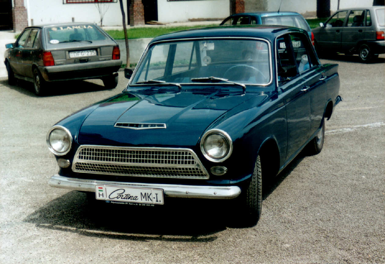
[[[305,158],[300,153],[276,178],[265,185],[265,200]],[[164,205],[127,206],[97,204],[85,193],[70,191],[50,201],[24,219],[37,227],[74,232],[84,236],[122,240],[209,242],[233,224],[234,210],[228,200],[166,199]]]

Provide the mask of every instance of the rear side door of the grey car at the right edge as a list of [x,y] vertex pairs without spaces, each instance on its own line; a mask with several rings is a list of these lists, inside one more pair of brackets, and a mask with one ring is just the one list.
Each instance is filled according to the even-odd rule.
[[341,49],[353,51],[360,40],[365,39],[365,9],[350,10],[341,32]]

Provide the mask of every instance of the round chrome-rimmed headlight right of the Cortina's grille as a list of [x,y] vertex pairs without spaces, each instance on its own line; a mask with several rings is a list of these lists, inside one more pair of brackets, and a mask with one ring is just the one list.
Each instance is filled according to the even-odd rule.
[[201,140],[201,151],[210,161],[224,161],[230,156],[232,148],[230,136],[222,130],[209,130]]

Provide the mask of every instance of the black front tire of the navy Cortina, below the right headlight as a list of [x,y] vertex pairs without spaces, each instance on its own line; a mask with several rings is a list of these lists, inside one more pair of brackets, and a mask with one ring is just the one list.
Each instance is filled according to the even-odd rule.
[[255,225],[262,211],[262,169],[259,155],[255,162],[250,184],[237,199],[235,210],[238,212],[234,215],[234,223],[243,227]]

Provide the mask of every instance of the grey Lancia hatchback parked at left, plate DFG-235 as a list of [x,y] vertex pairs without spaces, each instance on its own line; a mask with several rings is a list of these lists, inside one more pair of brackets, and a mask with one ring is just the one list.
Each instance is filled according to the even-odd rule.
[[33,82],[40,95],[53,81],[101,79],[115,88],[122,65],[118,44],[94,23],[27,27],[5,45],[8,82]]

